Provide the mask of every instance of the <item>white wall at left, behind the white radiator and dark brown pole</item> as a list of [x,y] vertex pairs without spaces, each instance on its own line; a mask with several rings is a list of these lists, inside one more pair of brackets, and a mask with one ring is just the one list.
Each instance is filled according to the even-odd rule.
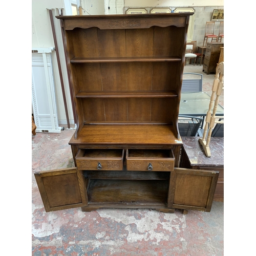
[[[72,104],[69,91],[69,82],[66,69],[66,60],[63,51],[63,43],[61,37],[60,23],[59,19],[56,19],[55,16],[59,15],[57,9],[65,8],[66,0],[44,0],[37,1],[32,0],[32,48],[49,48],[54,47],[53,33],[51,28],[51,21],[49,10],[52,9],[54,16],[54,24],[57,35],[58,49],[60,54],[61,62],[61,71],[63,75],[63,82],[65,87],[67,106],[68,106],[68,115],[70,123],[74,123]],[[68,0],[69,2],[69,0]],[[57,9],[56,9],[57,8]],[[66,14],[65,9],[63,13]],[[53,71],[54,71],[54,83],[56,91],[56,103],[58,111],[59,124],[67,124],[67,116],[65,112],[65,105],[62,96],[61,83],[59,78],[59,71],[57,65],[56,52],[52,52],[53,60]]]

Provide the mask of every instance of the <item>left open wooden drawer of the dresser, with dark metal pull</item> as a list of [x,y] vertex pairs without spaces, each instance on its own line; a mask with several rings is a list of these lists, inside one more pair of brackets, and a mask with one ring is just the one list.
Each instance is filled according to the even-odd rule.
[[123,170],[124,150],[80,149],[76,165],[82,170]]

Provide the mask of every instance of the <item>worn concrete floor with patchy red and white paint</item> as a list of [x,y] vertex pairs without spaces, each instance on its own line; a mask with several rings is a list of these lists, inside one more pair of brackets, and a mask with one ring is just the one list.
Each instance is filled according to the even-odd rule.
[[[196,70],[188,65],[184,72],[199,73]],[[209,79],[205,88],[214,75],[203,76]],[[188,211],[187,215],[180,210],[164,214],[112,208],[45,212],[34,172],[74,166],[68,145],[74,131],[32,135],[32,256],[224,255],[222,202],[214,201],[210,212]]]

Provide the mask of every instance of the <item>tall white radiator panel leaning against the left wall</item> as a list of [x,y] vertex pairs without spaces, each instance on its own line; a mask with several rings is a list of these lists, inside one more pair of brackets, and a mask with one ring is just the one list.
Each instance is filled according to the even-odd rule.
[[54,89],[51,52],[54,48],[32,49],[32,108],[36,132],[60,133]]

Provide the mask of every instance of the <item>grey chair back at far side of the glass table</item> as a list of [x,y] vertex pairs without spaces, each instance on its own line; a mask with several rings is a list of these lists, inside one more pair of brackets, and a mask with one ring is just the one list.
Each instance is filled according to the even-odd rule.
[[[188,79],[184,79],[184,78]],[[197,73],[183,73],[183,81],[181,92],[202,92],[203,90],[203,75]]]

